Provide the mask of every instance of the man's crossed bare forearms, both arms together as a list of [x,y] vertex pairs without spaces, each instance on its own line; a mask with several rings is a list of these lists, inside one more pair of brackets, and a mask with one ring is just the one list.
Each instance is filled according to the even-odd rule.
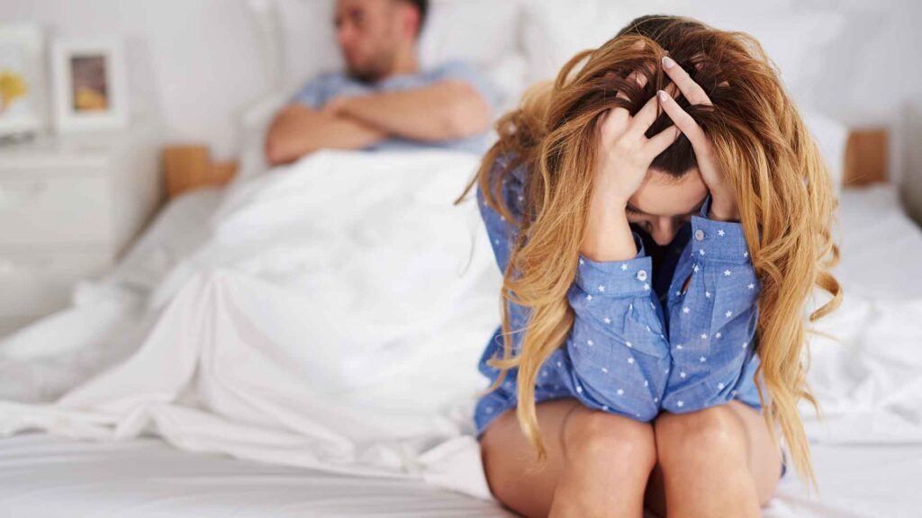
[[360,149],[399,136],[439,142],[477,135],[491,123],[490,105],[466,81],[361,96],[339,96],[319,110],[292,103],[266,135],[266,160],[288,163],[321,148]]

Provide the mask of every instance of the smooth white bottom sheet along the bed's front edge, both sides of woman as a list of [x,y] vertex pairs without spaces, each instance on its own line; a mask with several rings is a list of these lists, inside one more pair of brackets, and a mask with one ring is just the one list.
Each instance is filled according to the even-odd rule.
[[[814,444],[812,454],[819,498],[788,471],[764,518],[919,515],[922,444]],[[190,453],[155,437],[97,442],[30,432],[0,440],[0,516],[75,515],[514,516],[421,482]]]

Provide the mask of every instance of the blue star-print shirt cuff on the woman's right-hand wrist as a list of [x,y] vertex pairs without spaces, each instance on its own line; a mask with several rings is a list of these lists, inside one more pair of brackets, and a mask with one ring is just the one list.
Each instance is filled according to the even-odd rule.
[[708,194],[701,214],[691,217],[691,254],[703,262],[710,259],[740,265],[749,263],[749,245],[742,224],[707,218],[710,206],[711,194]]

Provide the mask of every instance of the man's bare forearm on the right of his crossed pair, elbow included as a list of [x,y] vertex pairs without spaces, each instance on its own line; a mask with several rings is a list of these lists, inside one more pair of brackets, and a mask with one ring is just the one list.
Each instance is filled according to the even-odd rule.
[[476,88],[458,79],[444,79],[427,87],[338,97],[330,100],[328,108],[388,133],[422,141],[477,135],[491,124],[490,104]]

